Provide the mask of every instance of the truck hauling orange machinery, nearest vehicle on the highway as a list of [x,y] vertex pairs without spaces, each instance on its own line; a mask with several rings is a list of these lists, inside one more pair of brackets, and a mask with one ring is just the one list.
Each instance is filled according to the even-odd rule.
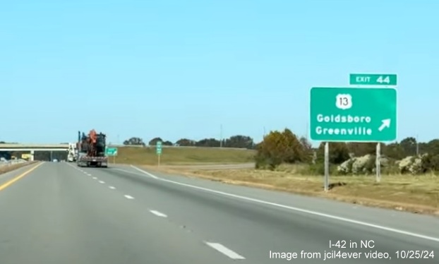
[[107,136],[92,129],[88,135],[78,131],[78,167],[108,167],[105,155]]

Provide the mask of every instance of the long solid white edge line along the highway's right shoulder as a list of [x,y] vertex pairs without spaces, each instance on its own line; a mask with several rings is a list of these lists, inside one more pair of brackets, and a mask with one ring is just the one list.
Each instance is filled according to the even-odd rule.
[[349,219],[349,218],[345,218],[345,217],[338,217],[338,216],[335,216],[335,215],[329,215],[329,214],[325,214],[323,212],[315,212],[315,211],[311,211],[311,210],[296,208],[296,207],[289,206],[289,205],[282,205],[282,204],[279,204],[279,203],[271,203],[271,202],[267,202],[265,200],[259,200],[259,199],[250,198],[250,197],[246,197],[246,196],[239,196],[239,195],[236,195],[236,194],[233,194],[233,193],[226,193],[224,191],[215,191],[215,190],[212,190],[210,188],[204,188],[204,187],[195,186],[195,185],[191,185],[191,184],[183,184],[183,183],[178,182],[178,181],[171,181],[171,180],[168,180],[168,179],[159,178],[159,177],[157,177],[157,176],[155,176],[153,174],[150,174],[149,172],[145,172],[143,169],[138,169],[137,167],[134,167],[133,165],[131,165],[131,167],[133,167],[134,169],[137,169],[139,172],[143,172],[145,174],[148,174],[149,176],[152,176],[155,179],[158,179],[160,181],[166,181],[166,182],[169,182],[171,184],[177,184],[177,185],[186,186],[186,187],[190,187],[190,188],[196,188],[198,190],[209,191],[211,193],[217,193],[217,194],[221,194],[223,196],[229,196],[229,197],[238,198],[238,199],[241,199],[241,200],[249,200],[249,201],[252,201],[252,202],[255,202],[255,203],[262,203],[262,204],[265,204],[265,205],[272,205],[272,206],[275,206],[275,207],[278,207],[278,208],[289,209],[289,210],[293,210],[293,211],[296,211],[296,212],[304,212],[304,213],[306,213],[308,215],[317,215],[317,216],[320,216],[320,217],[326,217],[326,218],[330,218],[330,219],[333,219],[333,220],[339,220],[339,221],[342,221],[342,222],[349,222],[351,224],[358,224],[358,225],[362,225],[362,226],[365,226],[365,227],[373,227],[375,229],[381,229],[381,230],[385,230],[387,232],[393,232],[393,233],[396,233],[396,234],[404,234],[406,236],[414,236],[414,237],[417,237],[419,239],[426,239],[426,240],[430,240],[430,241],[439,242],[439,238],[438,237],[426,236],[426,235],[423,235],[423,234],[416,234],[416,233],[413,233],[413,232],[407,232],[407,231],[400,230],[400,229],[395,229],[395,228],[392,228],[392,227],[383,227],[383,226],[380,226],[379,224],[371,224],[371,223],[362,222],[362,221],[359,221],[359,220],[353,220],[353,219]]

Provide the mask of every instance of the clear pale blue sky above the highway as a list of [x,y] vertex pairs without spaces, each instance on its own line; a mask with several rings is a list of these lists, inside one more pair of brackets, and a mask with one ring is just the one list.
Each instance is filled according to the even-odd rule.
[[[397,73],[399,140],[438,136],[439,1],[1,1],[0,140],[306,135],[309,89]],[[431,122],[430,122],[431,121]]]

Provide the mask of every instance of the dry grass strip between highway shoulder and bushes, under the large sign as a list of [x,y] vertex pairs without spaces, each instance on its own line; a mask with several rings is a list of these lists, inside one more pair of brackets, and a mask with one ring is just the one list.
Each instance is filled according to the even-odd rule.
[[[150,167],[157,169],[157,167]],[[163,169],[163,168],[162,168]],[[164,169],[167,172],[200,177],[228,184],[288,191],[332,198],[349,203],[439,215],[439,177],[383,175],[379,184],[375,176],[330,176],[330,191],[323,191],[323,176],[306,176],[300,167],[283,167],[277,172],[256,169]]]

